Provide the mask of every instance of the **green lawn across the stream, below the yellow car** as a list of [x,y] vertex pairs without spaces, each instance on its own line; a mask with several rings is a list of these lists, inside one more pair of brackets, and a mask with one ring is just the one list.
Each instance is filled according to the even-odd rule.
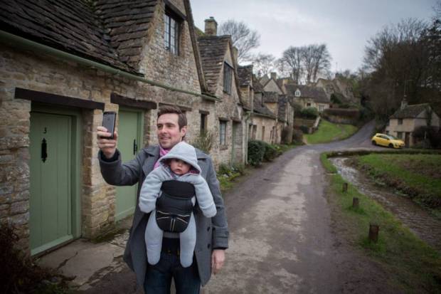
[[441,216],[440,154],[367,154],[355,159],[376,181],[408,194]]

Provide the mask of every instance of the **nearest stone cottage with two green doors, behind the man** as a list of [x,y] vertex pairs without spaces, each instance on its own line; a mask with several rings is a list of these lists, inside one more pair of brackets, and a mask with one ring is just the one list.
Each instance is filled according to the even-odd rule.
[[[186,112],[190,142],[213,125],[225,140],[235,125],[240,142],[233,51],[226,41],[227,95],[224,78],[206,83],[188,0],[6,0],[0,15],[0,221],[24,252],[92,238],[134,211],[137,187],[100,174],[104,110],[117,112],[124,161],[156,143],[158,105]],[[223,143],[217,162],[244,156]]]

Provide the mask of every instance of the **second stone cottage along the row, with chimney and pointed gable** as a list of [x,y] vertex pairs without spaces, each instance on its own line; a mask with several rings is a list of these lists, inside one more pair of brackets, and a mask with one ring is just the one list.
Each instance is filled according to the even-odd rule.
[[245,162],[248,149],[248,122],[240,96],[237,49],[233,48],[231,36],[217,36],[217,26],[213,17],[206,19],[205,33],[198,36],[208,93],[220,98],[216,103],[204,103],[200,110],[207,115],[206,120],[216,134],[211,151],[216,166]]

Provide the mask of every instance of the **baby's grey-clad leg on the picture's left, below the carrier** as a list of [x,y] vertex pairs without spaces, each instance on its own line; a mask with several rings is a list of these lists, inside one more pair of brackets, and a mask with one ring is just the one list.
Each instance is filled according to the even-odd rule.
[[147,222],[145,241],[147,246],[147,261],[152,266],[161,258],[162,235],[164,232],[156,224],[156,210],[152,211]]

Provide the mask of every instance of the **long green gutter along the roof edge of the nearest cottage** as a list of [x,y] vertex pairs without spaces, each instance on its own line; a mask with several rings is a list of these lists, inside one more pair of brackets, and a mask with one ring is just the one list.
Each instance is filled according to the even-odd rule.
[[37,43],[37,42],[31,41],[31,40],[28,40],[26,38],[22,38],[20,36],[16,36],[16,35],[11,34],[11,33],[7,33],[6,31],[1,31],[0,30],[0,41],[2,43],[6,43],[9,46],[18,47],[18,48],[22,48],[22,49],[26,49],[26,50],[30,50],[30,51],[38,51],[40,53],[49,54],[51,56],[55,56],[57,58],[61,58],[61,59],[64,59],[64,60],[74,61],[76,63],[79,63],[81,65],[85,65],[85,66],[90,67],[90,68],[95,68],[97,70],[102,70],[105,73],[111,73],[113,75],[119,75],[120,77],[128,78],[129,80],[137,80],[138,82],[146,83],[146,84],[149,84],[149,85],[154,85],[156,87],[163,88],[163,89],[166,89],[166,90],[170,90],[170,91],[173,91],[173,92],[185,93],[185,94],[188,94],[188,95],[194,95],[194,96],[198,96],[198,97],[201,97],[203,99],[211,100],[211,101],[221,101],[221,99],[217,98],[216,96],[204,95],[204,94],[201,94],[201,93],[191,92],[191,91],[188,91],[188,90],[174,88],[174,87],[171,87],[169,85],[165,85],[163,83],[158,83],[158,82],[155,82],[154,80],[148,80],[147,78],[143,78],[142,76],[134,75],[133,73],[127,73],[124,70],[119,70],[117,68],[112,68],[109,65],[104,65],[102,63],[97,63],[96,61],[91,61],[90,59],[87,59],[87,58],[82,58],[80,56],[75,56],[74,54],[67,53],[65,51],[61,51],[61,50],[52,48],[50,46],[46,46],[46,45],[43,45],[41,43]]

